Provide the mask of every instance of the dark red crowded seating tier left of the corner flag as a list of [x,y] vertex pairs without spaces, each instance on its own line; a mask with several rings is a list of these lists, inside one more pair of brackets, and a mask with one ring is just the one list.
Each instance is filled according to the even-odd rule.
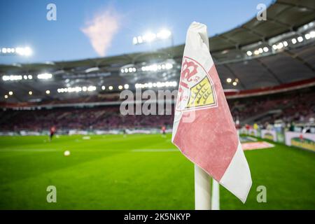
[[62,130],[111,130],[114,128],[171,126],[173,116],[122,116],[119,106],[92,109],[51,109],[2,111],[0,130],[48,130],[55,125]]

